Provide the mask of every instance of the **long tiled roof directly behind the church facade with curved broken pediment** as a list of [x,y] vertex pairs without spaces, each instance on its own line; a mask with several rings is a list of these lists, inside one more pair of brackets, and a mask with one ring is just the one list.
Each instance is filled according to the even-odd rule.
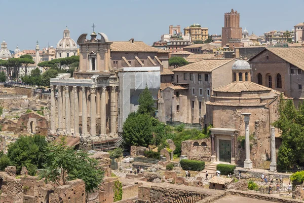
[[134,41],[133,43],[129,41],[119,41],[113,42],[110,46],[111,51],[120,51],[120,52],[158,52],[158,53],[169,53],[169,51],[150,47],[141,41]]

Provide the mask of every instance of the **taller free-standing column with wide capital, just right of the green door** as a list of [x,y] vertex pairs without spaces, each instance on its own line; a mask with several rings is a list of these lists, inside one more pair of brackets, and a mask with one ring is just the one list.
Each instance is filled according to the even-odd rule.
[[245,122],[245,150],[246,150],[246,159],[244,161],[244,168],[251,169],[252,161],[250,160],[250,140],[249,140],[249,117],[251,113],[242,113],[244,116]]

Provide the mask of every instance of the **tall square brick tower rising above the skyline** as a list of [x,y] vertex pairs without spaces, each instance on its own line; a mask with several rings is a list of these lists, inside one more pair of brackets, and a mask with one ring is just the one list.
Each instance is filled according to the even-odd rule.
[[230,48],[240,47],[242,39],[242,27],[240,27],[240,13],[231,10],[225,13],[225,24],[222,27],[222,47],[229,44]]

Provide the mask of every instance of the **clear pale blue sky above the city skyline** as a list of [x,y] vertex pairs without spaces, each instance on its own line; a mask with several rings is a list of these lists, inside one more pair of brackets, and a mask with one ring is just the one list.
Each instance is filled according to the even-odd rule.
[[5,39],[10,50],[17,44],[21,50],[34,49],[37,40],[41,48],[48,42],[55,47],[65,25],[75,41],[82,33],[92,32],[92,23],[110,41],[134,38],[150,45],[168,33],[169,25],[183,28],[199,23],[209,27],[209,33],[220,34],[224,13],[232,8],[240,12],[243,29],[256,35],[290,30],[304,22],[303,0],[0,0],[0,7],[0,39]]

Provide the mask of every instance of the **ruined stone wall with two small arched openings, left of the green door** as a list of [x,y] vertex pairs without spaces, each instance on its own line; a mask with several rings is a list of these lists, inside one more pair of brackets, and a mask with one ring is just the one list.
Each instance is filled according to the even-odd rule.
[[211,139],[187,140],[181,142],[181,155],[187,155],[188,159],[199,161],[211,160]]

